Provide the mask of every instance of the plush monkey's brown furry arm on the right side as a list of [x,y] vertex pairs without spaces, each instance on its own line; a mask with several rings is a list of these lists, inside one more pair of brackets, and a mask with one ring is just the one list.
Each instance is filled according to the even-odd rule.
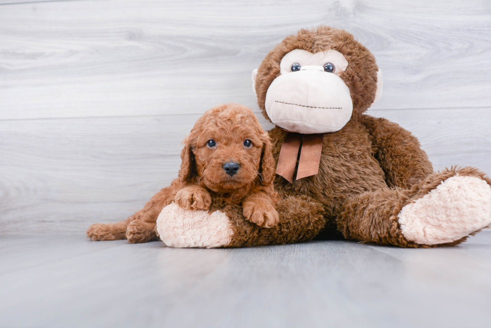
[[409,188],[433,173],[418,139],[398,124],[363,115],[360,119],[372,137],[374,156],[389,187]]

